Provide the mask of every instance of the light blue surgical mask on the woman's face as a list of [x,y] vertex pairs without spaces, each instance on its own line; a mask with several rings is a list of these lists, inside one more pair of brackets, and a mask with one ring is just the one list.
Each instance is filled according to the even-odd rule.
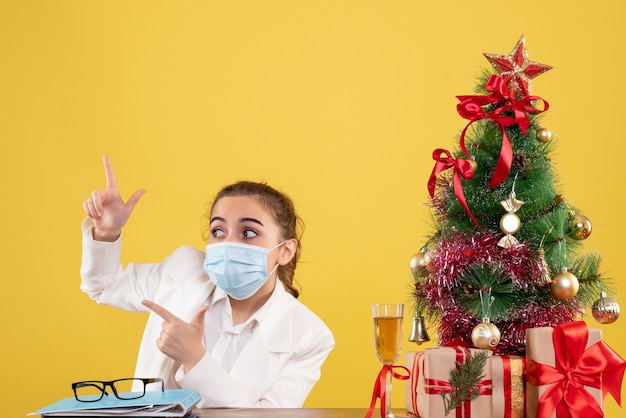
[[213,283],[233,299],[254,295],[278,268],[267,272],[267,255],[286,241],[267,249],[239,242],[218,242],[206,246],[204,271]]

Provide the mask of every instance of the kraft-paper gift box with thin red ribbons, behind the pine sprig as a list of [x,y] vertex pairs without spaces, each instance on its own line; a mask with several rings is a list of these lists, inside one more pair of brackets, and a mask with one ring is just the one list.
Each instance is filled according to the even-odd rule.
[[[422,352],[406,353],[405,365],[411,370],[407,384],[406,408],[422,418],[446,417],[446,402],[454,392],[450,384],[450,371],[457,364],[465,364],[470,354],[487,354],[487,362],[482,370],[483,377],[478,382],[478,396],[471,401],[463,401],[449,411],[451,418],[492,418],[490,351],[461,347],[429,348]],[[458,362],[458,363],[457,363]]]

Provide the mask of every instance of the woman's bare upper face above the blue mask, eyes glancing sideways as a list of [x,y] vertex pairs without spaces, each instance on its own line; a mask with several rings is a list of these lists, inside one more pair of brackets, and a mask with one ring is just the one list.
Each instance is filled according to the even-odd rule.
[[[211,213],[209,244],[239,242],[272,248],[283,241],[272,214],[251,196],[222,197]],[[276,266],[281,251],[270,251],[268,269]]]

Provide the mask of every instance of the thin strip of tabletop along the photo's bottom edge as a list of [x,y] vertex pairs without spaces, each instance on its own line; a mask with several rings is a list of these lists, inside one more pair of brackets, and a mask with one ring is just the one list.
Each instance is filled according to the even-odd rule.
[[[232,418],[232,417],[303,417],[303,418],[364,418],[367,408],[252,408],[252,409],[196,409],[201,418]],[[415,415],[403,409],[394,409],[396,417],[412,417]],[[376,408],[372,418],[380,417],[380,409]]]

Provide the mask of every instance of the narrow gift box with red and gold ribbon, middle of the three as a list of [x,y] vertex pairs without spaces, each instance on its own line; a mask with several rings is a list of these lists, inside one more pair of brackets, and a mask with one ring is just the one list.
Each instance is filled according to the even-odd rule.
[[526,416],[526,358],[521,356],[493,356],[492,405],[494,418],[524,418]]

